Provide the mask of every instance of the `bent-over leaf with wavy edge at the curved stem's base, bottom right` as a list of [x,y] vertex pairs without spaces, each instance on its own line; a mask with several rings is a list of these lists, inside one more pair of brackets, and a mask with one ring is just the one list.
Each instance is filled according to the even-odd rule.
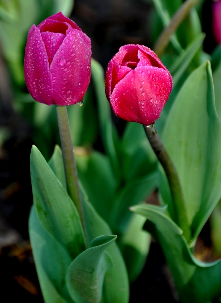
[[221,261],[204,263],[192,255],[182,230],[159,206],[131,208],[147,218],[144,228],[160,243],[174,277],[180,302],[206,303],[221,296]]

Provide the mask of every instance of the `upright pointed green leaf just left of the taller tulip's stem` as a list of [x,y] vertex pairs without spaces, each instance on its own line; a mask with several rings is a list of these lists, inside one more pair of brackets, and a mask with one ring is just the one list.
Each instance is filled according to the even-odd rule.
[[34,205],[41,225],[74,259],[85,248],[76,208],[35,146],[30,161]]

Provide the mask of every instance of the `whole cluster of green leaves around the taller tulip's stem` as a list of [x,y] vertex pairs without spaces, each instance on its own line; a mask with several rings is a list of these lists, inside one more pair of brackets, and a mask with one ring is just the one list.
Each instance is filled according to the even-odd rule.
[[57,176],[33,146],[34,207],[29,232],[45,302],[127,303],[128,277],[119,248],[112,243],[116,236],[111,235],[109,226],[82,194],[89,245],[86,249],[79,216],[63,187],[59,148],[50,166]]

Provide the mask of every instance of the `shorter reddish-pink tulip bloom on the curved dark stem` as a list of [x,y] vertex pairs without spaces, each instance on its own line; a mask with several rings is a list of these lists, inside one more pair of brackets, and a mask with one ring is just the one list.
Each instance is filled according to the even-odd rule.
[[150,48],[129,44],[109,62],[105,90],[115,115],[151,125],[169,98],[172,77]]

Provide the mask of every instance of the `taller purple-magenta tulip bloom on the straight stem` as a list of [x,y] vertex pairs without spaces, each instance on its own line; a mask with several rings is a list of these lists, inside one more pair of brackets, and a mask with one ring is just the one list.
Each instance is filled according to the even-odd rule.
[[90,39],[61,12],[30,28],[24,78],[36,101],[60,106],[80,102],[90,82],[90,65]]

